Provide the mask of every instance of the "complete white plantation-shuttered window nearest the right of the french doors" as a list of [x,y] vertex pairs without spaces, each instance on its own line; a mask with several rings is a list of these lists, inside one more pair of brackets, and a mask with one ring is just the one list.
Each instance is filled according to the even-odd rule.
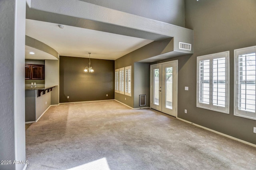
[[229,113],[229,51],[197,57],[196,106]]

